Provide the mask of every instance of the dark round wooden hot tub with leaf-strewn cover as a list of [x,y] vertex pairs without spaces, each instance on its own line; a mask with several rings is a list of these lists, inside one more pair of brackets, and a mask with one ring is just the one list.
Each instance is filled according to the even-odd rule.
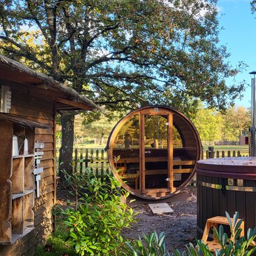
[[248,228],[256,226],[256,157],[206,159],[196,164],[197,229],[203,234],[206,220],[233,217],[238,211]]

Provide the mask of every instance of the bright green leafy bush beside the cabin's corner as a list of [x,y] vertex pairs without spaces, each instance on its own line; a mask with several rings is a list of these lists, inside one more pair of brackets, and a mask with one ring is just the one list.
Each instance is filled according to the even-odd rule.
[[86,191],[77,210],[60,210],[69,229],[68,241],[79,255],[119,255],[124,243],[121,230],[134,222],[133,209],[121,202],[121,197],[127,198],[128,193],[113,177],[100,180],[90,170],[85,173],[85,181]]

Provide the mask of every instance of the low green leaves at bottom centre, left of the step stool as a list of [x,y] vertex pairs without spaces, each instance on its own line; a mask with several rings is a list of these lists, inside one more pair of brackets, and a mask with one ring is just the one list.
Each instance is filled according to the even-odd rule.
[[128,248],[126,248],[123,255],[126,256],[169,256],[168,251],[166,250],[166,235],[161,232],[159,236],[156,234],[156,231],[151,233],[149,236],[142,234],[142,238],[139,236],[132,245],[131,243],[126,243]]

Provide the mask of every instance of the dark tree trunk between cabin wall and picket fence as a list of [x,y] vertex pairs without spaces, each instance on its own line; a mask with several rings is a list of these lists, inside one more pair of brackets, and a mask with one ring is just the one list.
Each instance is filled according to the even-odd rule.
[[62,170],[72,174],[73,167],[73,144],[74,144],[74,114],[71,112],[64,112],[61,115],[62,124],[62,143],[60,147],[60,180],[64,180]]

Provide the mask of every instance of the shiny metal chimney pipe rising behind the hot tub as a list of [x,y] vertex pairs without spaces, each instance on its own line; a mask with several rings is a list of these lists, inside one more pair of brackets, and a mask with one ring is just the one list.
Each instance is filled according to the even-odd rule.
[[251,79],[251,126],[250,126],[250,140],[249,140],[249,155],[256,156],[256,71],[252,71],[249,74],[253,75]]

